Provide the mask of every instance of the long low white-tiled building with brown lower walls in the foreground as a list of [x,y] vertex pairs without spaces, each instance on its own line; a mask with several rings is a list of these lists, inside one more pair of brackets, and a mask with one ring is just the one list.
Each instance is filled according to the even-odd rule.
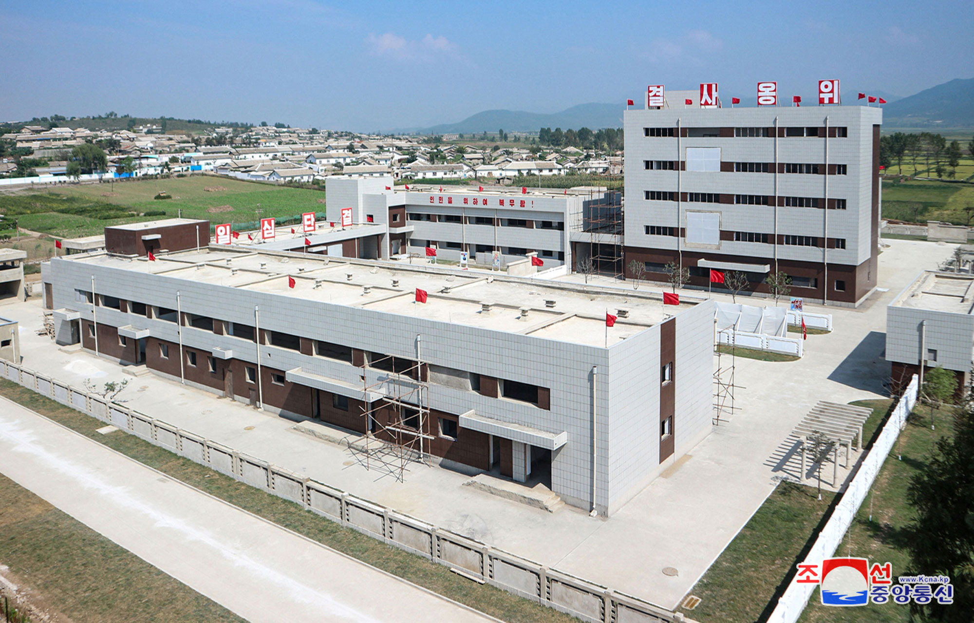
[[400,478],[493,472],[606,515],[711,430],[702,298],[217,245],[42,276],[59,344],[354,432]]

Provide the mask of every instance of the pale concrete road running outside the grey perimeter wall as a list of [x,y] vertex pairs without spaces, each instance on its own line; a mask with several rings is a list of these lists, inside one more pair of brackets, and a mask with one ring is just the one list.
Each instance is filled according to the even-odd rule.
[[497,620],[285,531],[3,398],[0,472],[249,621]]

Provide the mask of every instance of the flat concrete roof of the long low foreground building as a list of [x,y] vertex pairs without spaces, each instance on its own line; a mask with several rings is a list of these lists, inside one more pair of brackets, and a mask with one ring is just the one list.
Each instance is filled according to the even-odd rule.
[[[593,347],[616,344],[681,308],[663,306],[661,293],[652,290],[215,245],[161,255],[155,262],[106,253],[57,259]],[[415,302],[416,289],[428,293],[427,303]],[[606,312],[618,316],[608,331]]]

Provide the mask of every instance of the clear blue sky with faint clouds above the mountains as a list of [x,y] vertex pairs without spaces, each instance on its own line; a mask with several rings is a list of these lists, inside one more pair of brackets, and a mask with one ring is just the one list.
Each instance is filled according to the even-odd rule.
[[356,130],[717,82],[901,95],[974,76],[971,4],[0,0],[0,120],[114,110]]

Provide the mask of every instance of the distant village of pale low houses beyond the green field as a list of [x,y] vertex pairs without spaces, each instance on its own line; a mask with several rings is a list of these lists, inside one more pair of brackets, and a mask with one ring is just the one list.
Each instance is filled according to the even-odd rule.
[[[537,141],[524,146],[490,144],[483,140],[485,134],[468,135],[465,143],[463,134],[383,136],[275,126],[218,127],[198,135],[165,133],[159,125],[116,130],[24,126],[4,138],[47,161],[32,169],[36,176],[30,183],[74,181],[67,176],[67,159],[70,150],[83,143],[102,147],[108,157],[107,170],[82,176],[86,179],[207,172],[277,184],[389,175],[396,181],[476,178],[509,183],[523,175],[622,172],[620,152],[551,147]],[[0,177],[17,176],[13,159],[0,162]]]

